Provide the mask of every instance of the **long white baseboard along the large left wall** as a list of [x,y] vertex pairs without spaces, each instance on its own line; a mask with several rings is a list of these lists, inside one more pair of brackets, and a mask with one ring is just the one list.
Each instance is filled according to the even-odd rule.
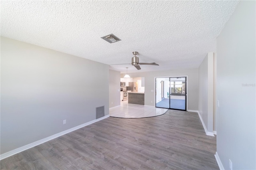
[[59,133],[54,134],[54,135],[52,135],[52,136],[49,136],[49,137],[47,137],[47,138],[43,138],[43,139],[38,140],[38,141],[36,141],[36,142],[32,142],[32,143],[27,144],[27,145],[25,145],[25,146],[22,146],[22,147],[20,147],[20,148],[16,148],[16,149],[14,149],[14,150],[11,150],[11,151],[9,151],[9,152],[6,152],[6,153],[4,153],[4,154],[1,154],[1,155],[0,155],[0,160],[2,160],[2,159],[4,159],[4,158],[7,158],[7,157],[9,157],[9,156],[12,156],[12,155],[14,155],[14,154],[18,154],[18,153],[20,153],[20,152],[22,152],[22,151],[24,151],[24,150],[29,149],[29,148],[33,148],[34,146],[37,146],[37,145],[39,145],[39,144],[42,144],[42,143],[44,143],[44,142],[47,142],[47,141],[49,141],[49,140],[52,140],[52,139],[57,138],[57,137],[59,137],[59,136],[62,136],[62,135],[64,135],[64,134],[67,134],[67,133],[72,132],[72,131],[74,131],[74,130],[77,130],[77,129],[79,129],[79,128],[82,128],[82,127],[88,126],[88,125],[90,125],[90,124],[92,124],[92,123],[101,121],[102,119],[106,119],[106,118],[108,118],[108,117],[109,117],[109,115],[106,115],[106,116],[104,116],[104,117],[101,117],[101,118],[99,118],[99,119],[96,119],[96,120],[93,120],[93,121],[84,123],[84,124],[79,125],[79,126],[77,126],[77,127],[73,127],[73,128],[68,129],[68,130],[65,130],[65,131],[63,131],[63,132],[59,132]]

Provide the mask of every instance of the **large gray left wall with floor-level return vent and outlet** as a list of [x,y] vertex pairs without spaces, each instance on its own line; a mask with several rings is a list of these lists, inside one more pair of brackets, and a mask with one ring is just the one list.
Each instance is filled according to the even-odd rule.
[[108,90],[108,65],[1,37],[1,154],[108,115]]

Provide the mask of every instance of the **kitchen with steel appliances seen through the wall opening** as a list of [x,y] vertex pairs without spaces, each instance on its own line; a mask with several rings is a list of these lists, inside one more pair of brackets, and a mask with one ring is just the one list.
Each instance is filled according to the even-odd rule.
[[120,101],[144,105],[144,77],[120,78]]

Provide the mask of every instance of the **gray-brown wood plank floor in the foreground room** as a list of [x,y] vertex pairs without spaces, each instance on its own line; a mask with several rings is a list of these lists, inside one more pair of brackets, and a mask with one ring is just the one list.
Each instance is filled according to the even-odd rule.
[[109,117],[0,161],[2,170],[219,169],[197,113]]

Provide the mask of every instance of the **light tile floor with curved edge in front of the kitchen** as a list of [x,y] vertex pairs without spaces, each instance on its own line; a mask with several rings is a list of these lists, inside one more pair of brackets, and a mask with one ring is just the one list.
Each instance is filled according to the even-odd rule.
[[163,115],[167,111],[168,109],[130,104],[128,101],[121,101],[120,106],[109,109],[109,115],[120,118],[143,118]]

